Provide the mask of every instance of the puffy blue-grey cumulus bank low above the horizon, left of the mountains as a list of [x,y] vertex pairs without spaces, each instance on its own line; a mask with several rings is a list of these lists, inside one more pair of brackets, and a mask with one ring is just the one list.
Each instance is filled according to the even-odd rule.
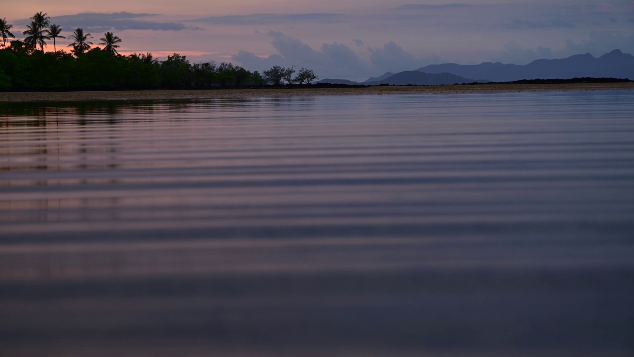
[[[322,79],[340,78],[357,81],[388,71],[412,71],[427,64],[439,64],[444,61],[435,56],[417,58],[393,41],[382,48],[367,48],[370,57],[368,61],[359,57],[358,53],[346,44],[324,43],[319,49],[314,49],[300,39],[282,32],[271,31],[266,35],[272,39],[271,45],[277,53],[262,57],[240,50],[231,56],[231,60],[252,71],[265,71],[273,65],[294,65],[297,68],[312,69]],[[363,41],[359,40],[358,43],[363,44]]]

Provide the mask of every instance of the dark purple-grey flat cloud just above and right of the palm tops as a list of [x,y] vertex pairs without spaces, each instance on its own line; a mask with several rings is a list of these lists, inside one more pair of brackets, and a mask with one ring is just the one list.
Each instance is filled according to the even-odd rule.
[[151,13],[79,13],[77,15],[63,15],[51,17],[51,24],[60,24],[66,28],[77,28],[90,32],[101,32],[108,30],[164,30],[178,31],[185,29],[199,29],[187,27],[178,22],[152,22],[139,20],[140,18],[153,17],[157,14]]

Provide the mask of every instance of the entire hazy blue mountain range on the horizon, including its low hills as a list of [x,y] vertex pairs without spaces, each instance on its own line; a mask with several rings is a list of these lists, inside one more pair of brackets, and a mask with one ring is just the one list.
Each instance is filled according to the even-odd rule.
[[[570,79],[575,77],[605,77],[634,79],[634,56],[613,50],[601,57],[590,53],[561,59],[540,59],[527,65],[491,62],[479,65],[428,65],[415,71],[368,78],[363,83],[345,79],[323,79],[319,83],[333,84],[413,84],[441,85],[454,83],[512,82],[522,79]],[[472,78],[472,79],[469,79]]]

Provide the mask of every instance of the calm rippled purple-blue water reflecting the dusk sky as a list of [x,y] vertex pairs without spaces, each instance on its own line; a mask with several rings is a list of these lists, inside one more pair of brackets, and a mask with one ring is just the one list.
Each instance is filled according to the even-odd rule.
[[0,349],[629,355],[633,99],[0,104]]

